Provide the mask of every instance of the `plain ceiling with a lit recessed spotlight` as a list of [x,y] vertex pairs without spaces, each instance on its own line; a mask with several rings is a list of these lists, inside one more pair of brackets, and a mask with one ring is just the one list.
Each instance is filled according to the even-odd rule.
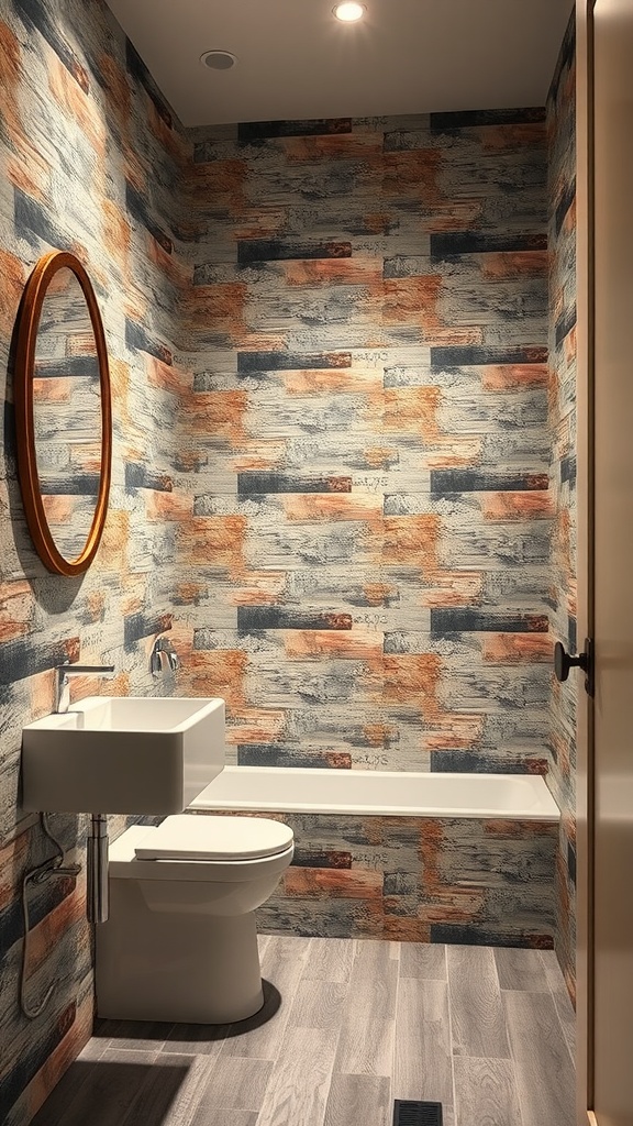
[[[108,0],[184,125],[543,105],[572,0]],[[204,51],[238,56],[212,71]]]

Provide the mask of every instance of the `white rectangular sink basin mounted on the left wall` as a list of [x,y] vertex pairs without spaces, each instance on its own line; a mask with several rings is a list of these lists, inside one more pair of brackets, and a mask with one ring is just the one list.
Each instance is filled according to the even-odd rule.
[[23,729],[23,807],[181,813],[224,768],[224,700],[89,696]]

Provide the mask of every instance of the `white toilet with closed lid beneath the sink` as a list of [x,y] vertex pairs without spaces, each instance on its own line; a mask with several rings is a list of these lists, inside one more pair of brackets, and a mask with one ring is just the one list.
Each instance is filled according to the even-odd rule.
[[225,1024],[264,1004],[255,910],[294,851],[264,817],[177,814],[110,846],[110,910],[97,927],[97,1013]]

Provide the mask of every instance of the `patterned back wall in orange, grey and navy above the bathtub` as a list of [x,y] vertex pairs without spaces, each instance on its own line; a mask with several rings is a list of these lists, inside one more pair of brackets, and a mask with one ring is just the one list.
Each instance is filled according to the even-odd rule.
[[544,771],[544,109],[195,140],[187,690],[240,763]]

